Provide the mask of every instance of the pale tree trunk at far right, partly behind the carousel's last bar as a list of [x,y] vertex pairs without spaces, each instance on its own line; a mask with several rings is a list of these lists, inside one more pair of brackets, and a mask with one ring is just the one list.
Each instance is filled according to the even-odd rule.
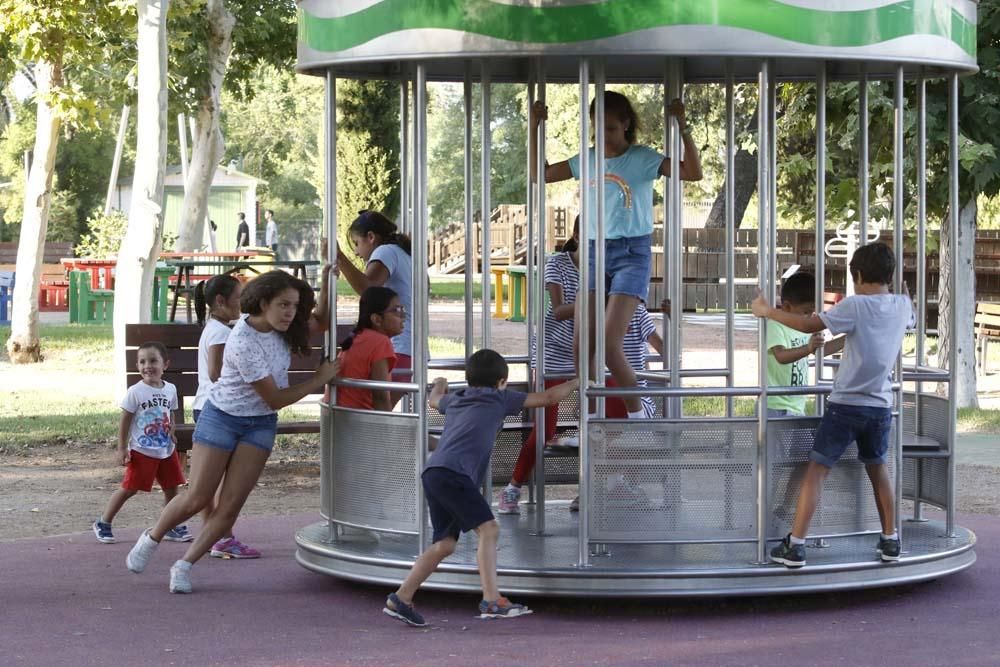
[[[973,321],[976,316],[976,199],[962,207],[958,216],[958,249],[952,266],[949,229],[951,216],[945,215],[941,225],[940,265],[938,285],[938,366],[948,368],[951,345],[958,349],[958,368],[952,373],[953,397],[960,408],[979,407],[976,397],[976,344]],[[955,292],[950,290],[951,272],[955,271]],[[949,315],[955,308],[955,331],[951,331]],[[943,390],[944,387],[941,387]]]

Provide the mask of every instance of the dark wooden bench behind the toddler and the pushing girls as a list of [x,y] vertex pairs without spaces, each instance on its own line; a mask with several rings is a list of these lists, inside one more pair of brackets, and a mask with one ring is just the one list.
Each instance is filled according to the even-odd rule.
[[[350,335],[351,325],[337,326],[337,343]],[[177,435],[177,449],[191,449],[191,437],[194,435],[194,423],[187,422],[184,416],[184,399],[194,400],[198,393],[198,340],[202,328],[197,324],[127,324],[125,325],[126,346],[126,382],[129,386],[139,382],[141,377],[135,368],[137,348],[148,341],[159,341],[167,348],[170,355],[170,368],[163,374],[163,379],[177,387],[177,423],[174,433]],[[308,379],[323,358],[324,334],[316,334],[310,344],[312,352],[308,357],[292,355],[292,365],[288,370],[288,381],[297,384]],[[310,421],[278,422],[278,433],[281,435],[297,435],[304,433],[319,433],[319,418]]]

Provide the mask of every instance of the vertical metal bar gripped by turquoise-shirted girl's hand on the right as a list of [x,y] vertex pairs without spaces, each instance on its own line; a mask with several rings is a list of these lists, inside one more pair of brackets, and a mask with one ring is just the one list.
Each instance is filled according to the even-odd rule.
[[[667,104],[684,95],[684,63],[679,58],[667,61]],[[677,119],[667,115],[670,150],[670,176],[667,178],[666,199],[667,219],[664,222],[664,236],[667,239],[663,247],[663,255],[670,254],[667,262],[669,273],[670,298],[670,336],[667,338],[667,350],[670,357],[670,386],[681,386],[681,321],[684,319],[684,294],[682,292],[684,275],[684,237],[681,231],[681,130]],[[670,230],[669,235],[666,234]],[[666,277],[665,277],[666,280]],[[681,416],[680,398],[670,398],[667,401],[667,417],[678,419]]]

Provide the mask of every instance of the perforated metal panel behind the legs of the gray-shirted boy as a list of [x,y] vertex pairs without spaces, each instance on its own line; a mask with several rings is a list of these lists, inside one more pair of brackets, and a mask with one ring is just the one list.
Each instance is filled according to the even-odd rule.
[[[768,424],[768,536],[789,532],[795,502],[809,461],[819,418],[773,420]],[[895,474],[895,426],[889,435],[888,472]],[[857,445],[851,444],[823,483],[823,495],[809,526],[811,535],[879,530],[878,509]]]

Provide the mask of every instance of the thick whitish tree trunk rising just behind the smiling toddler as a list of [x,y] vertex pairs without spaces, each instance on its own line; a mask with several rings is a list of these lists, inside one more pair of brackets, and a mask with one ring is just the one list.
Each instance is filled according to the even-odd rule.
[[149,322],[153,276],[163,237],[167,160],[167,9],[170,0],[139,0],[135,176],[128,229],[115,273],[115,373],[125,386],[125,325]]

